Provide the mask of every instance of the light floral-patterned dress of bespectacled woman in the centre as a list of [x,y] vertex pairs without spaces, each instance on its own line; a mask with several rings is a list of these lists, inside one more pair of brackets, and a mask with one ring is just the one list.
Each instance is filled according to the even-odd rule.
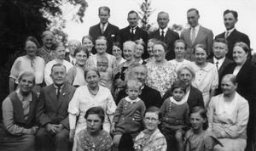
[[171,88],[172,83],[177,80],[175,67],[169,62],[166,62],[163,66],[149,62],[146,66],[148,69],[148,87],[158,90],[163,97],[167,89]]

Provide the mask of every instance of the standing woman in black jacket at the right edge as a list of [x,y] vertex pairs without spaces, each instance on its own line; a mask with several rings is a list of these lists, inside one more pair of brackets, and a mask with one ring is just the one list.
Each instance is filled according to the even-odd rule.
[[[236,76],[238,92],[243,98],[247,99],[250,107],[250,118],[247,126],[247,145],[251,146],[251,141],[256,140],[256,66],[248,58],[250,49],[244,42],[237,42],[233,49],[234,63],[229,64],[223,71],[223,75],[233,74]],[[221,76],[221,77],[222,77]],[[249,144],[250,143],[250,144]],[[254,142],[255,143],[255,142]]]

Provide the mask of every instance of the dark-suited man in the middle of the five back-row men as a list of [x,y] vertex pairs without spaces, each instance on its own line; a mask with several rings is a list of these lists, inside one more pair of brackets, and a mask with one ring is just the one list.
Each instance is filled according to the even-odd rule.
[[169,14],[167,14],[166,12],[160,12],[157,15],[157,22],[159,25],[159,29],[157,31],[149,33],[148,39],[155,38],[157,40],[160,40],[161,42],[165,42],[167,45],[166,59],[175,59],[173,44],[177,39],[179,39],[179,36],[177,32],[172,31],[167,27],[169,23]]

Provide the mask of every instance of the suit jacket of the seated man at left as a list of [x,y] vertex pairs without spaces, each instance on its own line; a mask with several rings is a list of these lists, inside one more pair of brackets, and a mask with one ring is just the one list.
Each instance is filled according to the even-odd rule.
[[41,126],[45,126],[47,123],[61,123],[69,129],[67,109],[74,92],[75,87],[69,85],[67,82],[64,83],[59,98],[57,98],[54,84],[43,87],[38,98],[38,123]]

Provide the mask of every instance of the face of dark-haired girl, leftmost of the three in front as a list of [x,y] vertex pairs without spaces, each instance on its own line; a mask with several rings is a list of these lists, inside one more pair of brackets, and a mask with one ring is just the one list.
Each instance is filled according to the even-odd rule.
[[87,131],[91,133],[97,133],[98,131],[101,131],[101,127],[103,124],[102,119],[99,117],[99,115],[88,115],[86,119],[87,124]]

